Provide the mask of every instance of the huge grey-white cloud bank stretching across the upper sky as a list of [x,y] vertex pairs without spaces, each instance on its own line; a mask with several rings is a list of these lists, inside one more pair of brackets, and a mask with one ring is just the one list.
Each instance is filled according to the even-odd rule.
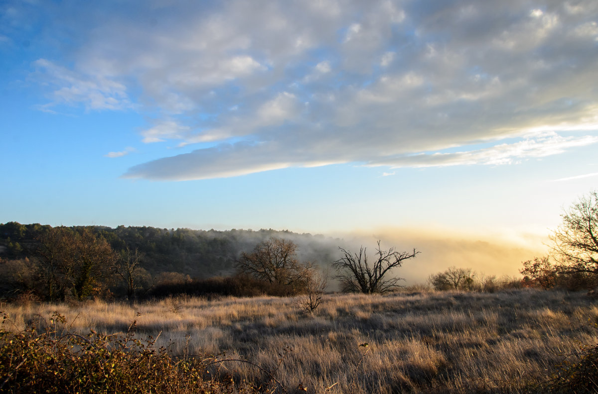
[[596,142],[597,4],[40,4],[46,41],[74,39],[32,76],[41,109],[132,109],[154,119],[145,143],[211,145],[127,177],[513,164]]

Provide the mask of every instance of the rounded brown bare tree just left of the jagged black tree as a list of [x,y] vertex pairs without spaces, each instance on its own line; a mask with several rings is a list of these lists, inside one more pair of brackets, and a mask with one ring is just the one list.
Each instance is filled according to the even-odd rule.
[[252,253],[241,254],[237,267],[243,273],[276,285],[301,287],[312,275],[312,263],[300,263],[297,245],[283,238],[260,242]]

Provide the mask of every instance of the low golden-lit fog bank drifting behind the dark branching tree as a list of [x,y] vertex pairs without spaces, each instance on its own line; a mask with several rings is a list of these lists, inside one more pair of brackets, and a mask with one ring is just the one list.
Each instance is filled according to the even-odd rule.
[[[300,260],[317,263],[322,270],[341,257],[339,247],[355,253],[361,245],[367,248],[368,257],[374,257],[377,241],[380,240],[383,250],[395,247],[399,251],[410,251],[416,248],[421,253],[413,260],[404,262],[401,268],[395,269],[393,275],[404,278],[404,285],[425,283],[428,276],[446,270],[450,266],[468,267],[478,275],[504,275],[520,278],[518,269],[522,261],[547,253],[545,243],[547,237],[539,235],[522,235],[515,241],[507,236],[489,237],[475,236],[465,233],[442,233],[440,231],[424,231],[413,229],[376,229],[371,231],[351,232],[332,236],[297,233],[280,234],[282,238],[291,239],[298,245]],[[257,241],[257,239],[256,239]],[[330,269],[330,276],[334,271]],[[331,282],[334,290],[334,281]]]

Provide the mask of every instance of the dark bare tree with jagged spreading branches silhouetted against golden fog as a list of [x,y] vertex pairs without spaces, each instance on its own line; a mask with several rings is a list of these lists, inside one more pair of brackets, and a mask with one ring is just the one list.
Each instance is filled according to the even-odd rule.
[[351,293],[388,293],[395,288],[401,287],[398,282],[402,278],[388,278],[390,270],[401,267],[405,260],[415,258],[420,252],[415,249],[413,252],[399,252],[395,248],[388,251],[380,248],[380,241],[376,248],[376,257],[373,264],[368,263],[368,257],[365,254],[366,248],[359,248],[359,254],[350,253],[346,249],[339,248],[343,257],[332,263],[337,269],[335,276],[341,282],[343,291]]

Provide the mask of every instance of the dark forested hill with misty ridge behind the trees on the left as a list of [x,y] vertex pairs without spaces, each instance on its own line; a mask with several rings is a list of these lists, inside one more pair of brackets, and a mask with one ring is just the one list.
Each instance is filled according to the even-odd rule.
[[[144,254],[143,267],[152,275],[178,272],[192,278],[230,275],[234,262],[243,251],[251,251],[261,241],[271,237],[286,238],[298,245],[300,260],[327,266],[337,257],[339,239],[294,233],[288,230],[192,230],[159,229],[146,226],[86,226],[103,236],[115,251],[129,247]],[[73,227],[80,229],[81,226]],[[33,258],[37,239],[51,226],[20,224],[14,221],[0,224],[0,258]]]

